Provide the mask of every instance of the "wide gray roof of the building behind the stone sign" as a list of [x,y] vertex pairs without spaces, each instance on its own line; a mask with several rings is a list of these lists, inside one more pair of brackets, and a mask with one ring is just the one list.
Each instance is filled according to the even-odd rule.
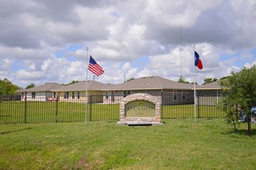
[[142,77],[133,79],[128,82],[109,85],[103,87],[103,91],[120,91],[120,90],[158,90],[158,89],[175,89],[175,90],[192,90],[193,84],[177,83],[169,79],[158,76]]

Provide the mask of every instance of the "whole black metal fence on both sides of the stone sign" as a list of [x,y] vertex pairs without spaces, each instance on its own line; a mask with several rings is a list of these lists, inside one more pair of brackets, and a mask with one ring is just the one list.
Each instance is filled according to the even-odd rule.
[[[162,118],[189,118],[194,116],[193,94],[162,93]],[[88,103],[82,99],[8,98],[0,96],[0,123],[51,123],[97,120],[119,120],[120,101],[124,96],[91,95]],[[197,117],[224,117],[217,109],[220,96],[197,93]],[[95,102],[96,101],[96,102]],[[99,102],[100,101],[100,102]],[[86,107],[87,106],[87,107]]]

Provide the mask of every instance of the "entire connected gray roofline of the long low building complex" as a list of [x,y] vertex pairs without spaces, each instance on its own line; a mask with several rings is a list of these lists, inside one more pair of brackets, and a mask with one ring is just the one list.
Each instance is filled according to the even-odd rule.
[[[196,85],[197,90],[221,90],[219,81],[207,83],[202,86]],[[123,91],[123,90],[193,90],[193,84],[177,83],[170,79],[159,76],[142,77],[120,84],[104,84],[92,80],[87,81],[88,91]],[[21,89],[18,92],[36,91],[86,91],[86,83],[78,82],[67,86],[59,83],[45,83],[38,87]]]

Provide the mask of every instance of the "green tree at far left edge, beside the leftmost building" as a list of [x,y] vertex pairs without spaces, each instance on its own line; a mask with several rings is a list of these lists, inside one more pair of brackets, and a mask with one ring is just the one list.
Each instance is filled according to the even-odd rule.
[[19,87],[8,79],[0,79],[0,95],[14,95],[18,89]]

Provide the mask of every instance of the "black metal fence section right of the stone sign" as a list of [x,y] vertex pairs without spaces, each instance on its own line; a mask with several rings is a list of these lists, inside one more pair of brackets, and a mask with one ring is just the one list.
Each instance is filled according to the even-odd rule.
[[[176,96],[177,95],[177,96]],[[221,94],[216,91],[197,91],[196,106],[193,91],[173,93],[165,92],[161,95],[162,118],[214,118],[225,117],[226,113],[217,107]]]

